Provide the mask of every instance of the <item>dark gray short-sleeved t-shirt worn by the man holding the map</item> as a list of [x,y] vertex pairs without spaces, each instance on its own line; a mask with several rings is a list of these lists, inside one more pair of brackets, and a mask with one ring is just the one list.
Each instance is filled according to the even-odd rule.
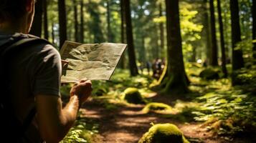
[[[0,34],[0,45],[11,35]],[[24,47],[25,46],[25,47]],[[34,107],[38,94],[60,97],[61,61],[59,52],[49,44],[25,44],[7,61],[6,76],[11,87],[11,103],[16,117],[23,122]],[[47,104],[45,105],[47,106]],[[37,127],[36,119],[33,122]],[[34,131],[30,131],[34,132]],[[37,131],[38,132],[38,131]]]

